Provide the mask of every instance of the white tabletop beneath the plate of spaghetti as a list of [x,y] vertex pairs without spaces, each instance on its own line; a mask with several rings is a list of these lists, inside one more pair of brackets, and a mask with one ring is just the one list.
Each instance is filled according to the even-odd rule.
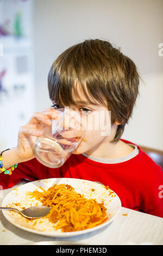
[[[24,183],[0,190],[0,206],[5,195]],[[123,216],[125,213],[127,216]],[[55,241],[56,245],[60,245],[60,241],[78,245],[163,245],[163,218],[122,207],[117,218],[106,228],[70,238],[54,238],[15,227],[0,211],[0,245],[29,245],[41,241]]]

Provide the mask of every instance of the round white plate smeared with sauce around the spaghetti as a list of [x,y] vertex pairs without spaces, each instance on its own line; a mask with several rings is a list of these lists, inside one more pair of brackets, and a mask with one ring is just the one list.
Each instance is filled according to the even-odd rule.
[[[62,232],[60,229],[55,230],[53,228],[54,223],[49,222],[48,218],[46,217],[34,219],[31,221],[21,216],[20,213],[5,210],[2,211],[3,215],[8,219],[9,222],[23,230],[44,236],[67,237],[82,235],[100,229],[112,222],[112,220],[116,218],[121,210],[121,200],[118,195],[116,195],[111,189],[106,189],[105,186],[96,182],[80,180],[77,178],[48,178],[45,180],[33,181],[27,184],[23,184],[22,186],[12,190],[9,194],[7,194],[7,196],[3,199],[2,207],[15,207],[18,210],[22,210],[22,207],[27,208],[35,205],[42,205],[41,202],[37,201],[35,198],[30,198],[28,192],[32,192],[34,190],[42,192],[39,187],[47,190],[54,184],[62,183],[70,184],[77,193],[84,195],[87,199],[96,199],[98,203],[101,203],[102,200],[104,200],[104,206],[107,208],[106,213],[108,219],[101,225],[91,229],[73,232]],[[95,189],[94,192],[92,192],[92,188]],[[15,206],[15,203],[20,203],[20,205]]]

